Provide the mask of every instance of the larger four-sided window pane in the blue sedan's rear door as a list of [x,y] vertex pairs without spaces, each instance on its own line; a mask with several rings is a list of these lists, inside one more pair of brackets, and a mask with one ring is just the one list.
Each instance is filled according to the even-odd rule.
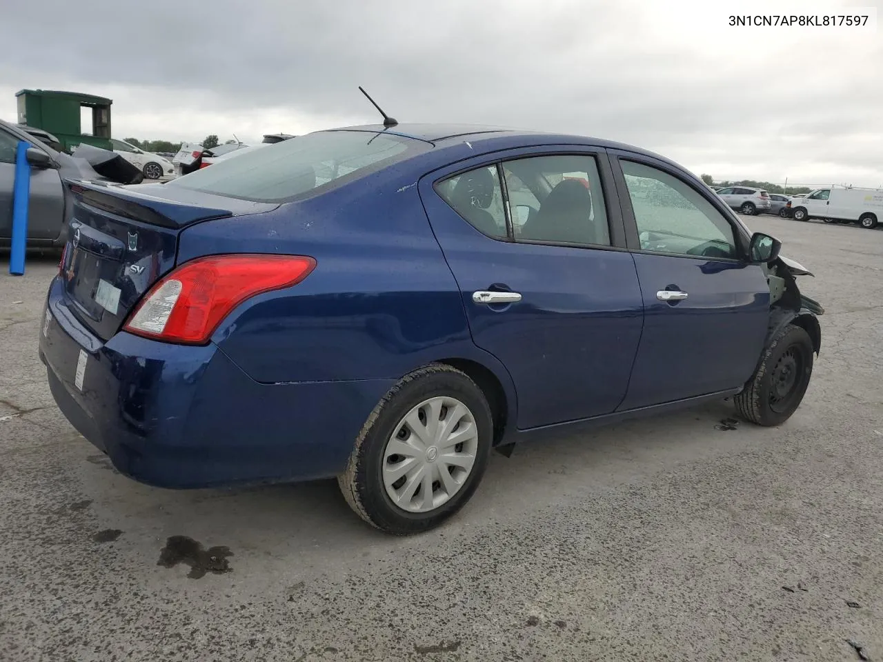
[[610,245],[592,156],[535,156],[503,163],[516,241]]

